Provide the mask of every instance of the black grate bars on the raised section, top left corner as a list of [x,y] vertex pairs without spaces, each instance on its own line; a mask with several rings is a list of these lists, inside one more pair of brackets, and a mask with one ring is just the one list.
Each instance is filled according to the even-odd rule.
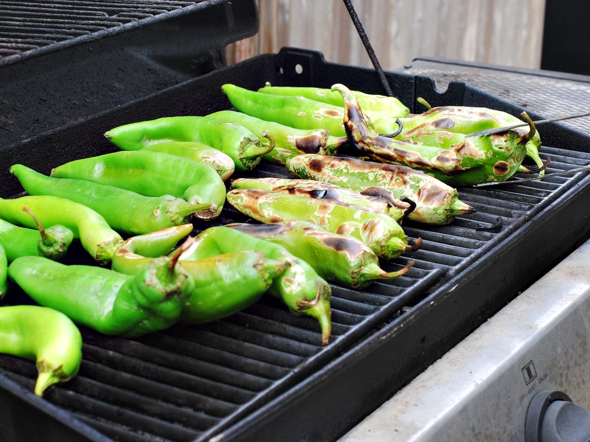
[[0,1],[0,66],[227,2]]

